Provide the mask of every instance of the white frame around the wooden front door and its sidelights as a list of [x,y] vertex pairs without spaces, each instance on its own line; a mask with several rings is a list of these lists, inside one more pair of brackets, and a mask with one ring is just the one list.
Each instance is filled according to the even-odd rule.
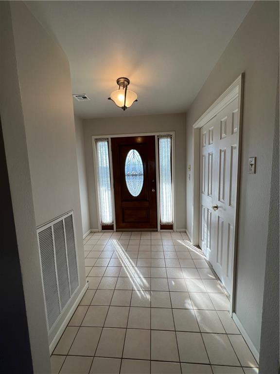
[[[115,194],[114,194],[114,177],[113,177],[113,164],[112,164],[112,150],[111,150],[111,138],[123,138],[123,137],[135,137],[135,136],[155,136],[156,142],[156,183],[157,183],[157,231],[172,231],[172,230],[160,230],[160,212],[159,212],[159,164],[158,164],[158,141],[157,135],[172,135],[171,137],[171,152],[172,152],[172,191],[173,191],[173,231],[176,231],[176,216],[175,216],[175,131],[159,131],[159,132],[141,132],[141,133],[129,133],[129,134],[113,134],[113,135],[92,135],[92,154],[93,154],[93,165],[94,165],[94,180],[95,180],[95,196],[96,206],[98,215],[98,231],[102,231],[101,220],[100,220],[100,209],[99,209],[99,194],[98,194],[98,174],[97,174],[97,155],[95,139],[104,138],[108,139],[109,148],[109,165],[110,165],[110,178],[111,178],[111,194],[112,194],[112,209],[113,209],[113,221],[114,231],[116,231],[116,214],[115,214]],[[108,231],[108,230],[103,230]],[[133,230],[132,230],[133,231]]]

